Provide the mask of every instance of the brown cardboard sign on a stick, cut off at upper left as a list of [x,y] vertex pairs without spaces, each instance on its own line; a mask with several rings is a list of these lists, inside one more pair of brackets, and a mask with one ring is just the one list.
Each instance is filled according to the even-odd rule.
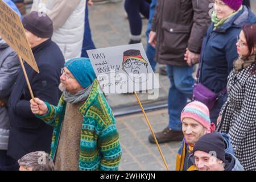
[[2,0],[0,0],[0,36],[27,64],[39,73],[19,15]]

